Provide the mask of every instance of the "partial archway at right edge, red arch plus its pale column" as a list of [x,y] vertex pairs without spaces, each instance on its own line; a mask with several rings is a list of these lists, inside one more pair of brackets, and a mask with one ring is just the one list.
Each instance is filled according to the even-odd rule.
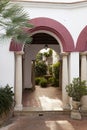
[[80,53],[80,77],[87,80],[87,26],[83,28],[77,39],[75,51]]

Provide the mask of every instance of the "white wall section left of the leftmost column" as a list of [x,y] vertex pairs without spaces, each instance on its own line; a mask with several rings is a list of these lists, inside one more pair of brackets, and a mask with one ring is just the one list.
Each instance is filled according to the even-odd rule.
[[14,86],[14,53],[9,51],[10,39],[0,41],[0,86]]

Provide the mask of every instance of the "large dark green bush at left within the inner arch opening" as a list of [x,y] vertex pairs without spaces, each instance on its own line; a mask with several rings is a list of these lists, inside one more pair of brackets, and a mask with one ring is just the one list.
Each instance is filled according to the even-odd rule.
[[37,77],[46,75],[47,72],[47,65],[42,61],[38,62],[35,65],[35,75]]

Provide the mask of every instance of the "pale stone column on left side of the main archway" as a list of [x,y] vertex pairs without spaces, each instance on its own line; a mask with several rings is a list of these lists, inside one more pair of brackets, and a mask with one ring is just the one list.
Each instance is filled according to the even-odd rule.
[[15,110],[22,110],[22,55],[24,52],[15,53]]

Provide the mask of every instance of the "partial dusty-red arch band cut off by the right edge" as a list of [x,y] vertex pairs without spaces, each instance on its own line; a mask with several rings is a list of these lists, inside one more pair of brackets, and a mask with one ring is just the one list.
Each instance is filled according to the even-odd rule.
[[81,31],[76,44],[75,51],[87,51],[87,26]]

